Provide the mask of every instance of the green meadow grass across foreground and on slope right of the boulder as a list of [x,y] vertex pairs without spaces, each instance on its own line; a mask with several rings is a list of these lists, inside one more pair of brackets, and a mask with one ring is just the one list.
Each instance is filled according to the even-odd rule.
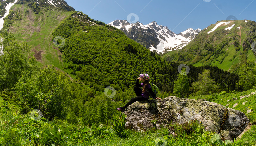
[[[239,99],[239,96],[241,95],[248,95],[251,92],[256,91],[256,89],[248,90],[245,92],[234,92],[234,93],[223,93],[223,95],[219,94],[212,94],[212,95],[204,95],[204,96],[193,96],[190,97],[191,99],[204,99],[206,98],[208,101],[216,102],[222,105],[226,105],[229,103],[227,108],[230,108],[230,106],[233,106],[233,104],[238,103],[238,106],[236,106],[234,109],[241,110],[242,112],[246,112],[247,108],[250,108],[251,110],[255,111],[255,105],[256,102],[256,94],[245,97],[243,99]],[[103,94],[103,93],[101,93]],[[238,100],[231,100],[233,97],[236,97]],[[7,97],[6,97],[7,98]],[[227,100],[230,100],[229,102]],[[251,100],[251,101],[250,101]],[[242,105],[244,101],[246,102],[245,105]],[[199,123],[197,122],[189,122],[186,124],[169,124],[167,127],[162,127],[160,129],[149,129],[145,132],[141,131],[134,131],[131,129],[126,129],[122,135],[118,135],[115,133],[115,131],[111,128],[111,125],[109,126],[103,126],[110,128],[109,131],[107,131],[105,134],[100,135],[101,132],[104,131],[103,129],[100,131],[94,131],[93,133],[83,133],[83,136],[81,137],[70,137],[65,138],[65,133],[61,134],[62,138],[61,140],[57,140],[57,138],[52,135],[52,129],[53,126],[58,126],[60,129],[61,127],[65,126],[68,127],[70,132],[77,132],[80,131],[80,128],[83,128],[82,118],[78,117],[77,119],[80,119],[80,121],[76,125],[71,125],[67,123],[64,120],[52,120],[48,121],[44,118],[42,118],[40,121],[32,120],[31,114],[27,113],[25,115],[18,113],[14,107],[15,102],[8,103],[9,109],[5,109],[3,105],[3,97],[0,97],[0,137],[2,137],[2,140],[0,140],[0,143],[3,143],[3,137],[6,136],[7,133],[13,133],[13,137],[18,137],[16,140],[19,140],[21,138],[22,140],[22,146],[32,146],[35,143],[37,145],[50,145],[55,144],[57,145],[64,145],[64,146],[94,146],[94,145],[106,145],[106,146],[118,146],[118,145],[127,145],[127,146],[155,146],[155,142],[157,142],[157,139],[161,137],[162,139],[166,139],[166,145],[167,146],[180,146],[180,145],[189,145],[189,146],[204,146],[206,143],[210,144],[210,133],[206,134],[209,137],[204,137],[204,140],[202,143],[197,142],[197,139],[199,136],[202,135],[202,127],[200,134],[197,133],[195,130],[196,128],[199,128]],[[122,101],[119,101],[118,104],[123,104]],[[251,120],[251,123],[256,124],[256,117],[254,112],[246,114],[249,119]],[[169,128],[175,131],[176,137],[174,137],[172,134],[169,133]],[[92,128],[91,128],[92,129]],[[251,129],[245,132],[245,134],[241,137],[240,140],[237,140],[234,145],[241,145],[241,146],[252,146],[255,143],[256,140],[256,126],[251,126]],[[15,131],[16,134],[15,134]],[[62,130],[60,130],[62,131]],[[100,132],[100,133],[99,133]],[[61,133],[61,132],[60,132]],[[80,133],[81,134],[81,133]],[[81,134],[82,135],[82,134]],[[1,142],[2,141],[2,142]],[[211,146],[212,144],[210,144]]]

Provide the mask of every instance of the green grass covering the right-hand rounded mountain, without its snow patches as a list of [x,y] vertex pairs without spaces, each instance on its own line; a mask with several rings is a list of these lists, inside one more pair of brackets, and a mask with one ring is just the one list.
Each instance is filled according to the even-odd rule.
[[[229,20],[230,21],[230,20]],[[216,24],[220,22],[227,22],[227,21],[218,21]],[[232,69],[230,71],[233,71],[235,68],[237,68],[239,65],[243,65],[246,63],[246,60],[254,60],[256,61],[256,57],[253,54],[253,52],[250,50],[248,52],[247,57],[244,55],[245,52],[243,52],[243,42],[246,41],[248,36],[250,35],[248,32],[250,31],[250,27],[247,26],[247,23],[244,23],[244,20],[238,20],[233,21],[227,25],[222,24],[222,26],[219,26],[217,29],[215,29],[211,33],[209,32],[212,28],[216,26],[216,24],[210,25],[208,28],[202,30],[198,36],[191,41],[187,46],[185,46],[183,49],[177,52],[171,53],[172,56],[175,56],[174,59],[171,61],[174,62],[185,62],[186,64],[194,63],[193,66],[204,66],[204,65],[210,65],[210,66],[216,66],[218,68],[223,69],[224,71],[227,71],[229,69]],[[231,28],[231,30],[224,30],[225,28],[235,24]],[[237,27],[240,27],[238,29]],[[227,34],[227,35],[226,35]],[[241,35],[240,35],[241,34]],[[205,39],[207,38],[207,39]],[[232,39],[235,38],[235,39]],[[250,38],[253,38],[253,35],[250,36]],[[208,42],[206,41],[208,40]],[[226,53],[225,58],[223,58],[223,54],[220,54],[220,50],[216,52],[216,54],[220,55],[218,57],[214,57],[214,55],[210,56],[206,55],[205,53],[208,52],[208,49],[205,48],[204,44],[207,44],[210,42],[213,46],[217,46],[219,43],[221,43],[223,40],[228,40],[228,44],[225,45],[225,47],[222,49],[224,53]],[[235,51],[234,42],[238,41],[240,44],[240,50]],[[202,45],[199,45],[199,44]],[[214,48],[213,48],[214,50]],[[198,54],[200,52],[200,54]],[[239,55],[242,52],[242,55]],[[213,52],[210,52],[213,53]],[[166,53],[162,57],[163,59],[166,58],[169,54]],[[199,56],[198,56],[199,55]],[[205,56],[206,55],[206,56]],[[236,58],[233,58],[233,56],[236,56]],[[183,59],[178,59],[183,58]],[[223,62],[219,64],[219,62],[223,59]]]

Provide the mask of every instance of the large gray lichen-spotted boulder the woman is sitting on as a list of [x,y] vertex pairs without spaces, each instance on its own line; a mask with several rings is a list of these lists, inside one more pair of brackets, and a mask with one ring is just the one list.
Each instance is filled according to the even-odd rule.
[[144,131],[171,122],[186,123],[197,120],[205,126],[205,130],[219,133],[227,140],[233,140],[243,132],[249,124],[247,116],[221,104],[194,99],[180,99],[168,96],[162,100],[134,102],[128,106],[127,127]]

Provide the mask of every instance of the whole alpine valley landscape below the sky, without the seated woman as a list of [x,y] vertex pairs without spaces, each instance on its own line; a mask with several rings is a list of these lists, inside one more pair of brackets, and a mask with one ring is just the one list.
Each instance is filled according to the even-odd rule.
[[[175,34],[64,0],[0,9],[0,146],[255,145],[256,22]],[[121,113],[141,73],[158,98]]]

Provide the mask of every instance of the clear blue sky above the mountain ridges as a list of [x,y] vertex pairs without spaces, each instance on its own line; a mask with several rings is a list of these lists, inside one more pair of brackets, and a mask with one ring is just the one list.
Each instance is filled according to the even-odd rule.
[[65,0],[76,11],[82,11],[94,20],[110,23],[117,19],[131,21],[138,18],[142,24],[156,21],[178,34],[187,28],[204,29],[219,20],[256,21],[256,0]]

